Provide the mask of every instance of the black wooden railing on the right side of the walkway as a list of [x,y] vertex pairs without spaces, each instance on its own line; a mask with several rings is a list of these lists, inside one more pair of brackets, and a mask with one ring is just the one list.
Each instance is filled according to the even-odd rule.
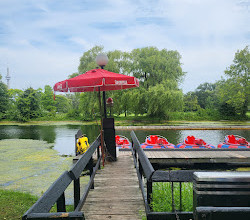
[[[137,176],[139,179],[139,184],[142,192],[142,197],[144,200],[145,211],[147,219],[151,220],[164,220],[164,219],[184,219],[189,220],[193,218],[193,212],[183,212],[181,210],[175,210],[174,201],[172,200],[172,212],[154,212],[151,208],[152,193],[153,193],[153,182],[192,182],[192,176],[194,171],[190,170],[178,170],[178,171],[161,171],[155,170],[147,158],[144,150],[140,147],[140,142],[138,141],[134,131],[131,132],[132,138],[132,154],[134,157],[134,164],[137,170]],[[144,188],[144,177],[146,191]],[[181,184],[180,184],[181,186]],[[181,187],[180,187],[181,192]],[[172,188],[173,196],[173,188]],[[172,197],[173,198],[173,197]],[[182,201],[180,199],[179,207],[182,207]]]

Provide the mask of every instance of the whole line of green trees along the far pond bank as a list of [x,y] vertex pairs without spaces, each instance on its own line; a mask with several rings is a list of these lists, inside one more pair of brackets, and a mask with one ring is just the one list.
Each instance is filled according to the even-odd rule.
[[[95,58],[103,49],[95,46],[84,52],[78,73],[69,77],[96,68]],[[187,94],[179,89],[186,73],[182,70],[178,51],[145,47],[131,52],[109,51],[107,55],[109,63],[106,70],[133,75],[140,80],[139,88],[106,93],[114,100],[112,114],[125,117],[146,115],[163,120],[188,120],[183,116],[194,113],[200,120],[247,118],[250,91],[248,46],[235,53],[232,65],[224,72],[225,78],[216,83],[203,83]],[[97,92],[57,93],[54,100],[53,89],[48,85],[38,90],[8,90],[0,81],[0,119],[93,120],[100,116],[97,95]]]

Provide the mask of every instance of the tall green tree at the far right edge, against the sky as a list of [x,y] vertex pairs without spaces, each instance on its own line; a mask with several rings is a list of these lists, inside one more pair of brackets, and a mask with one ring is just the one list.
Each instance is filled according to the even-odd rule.
[[246,117],[250,97],[250,53],[246,46],[237,51],[233,64],[225,70],[227,79],[218,84],[218,94],[221,103],[227,103],[235,108],[242,117]]

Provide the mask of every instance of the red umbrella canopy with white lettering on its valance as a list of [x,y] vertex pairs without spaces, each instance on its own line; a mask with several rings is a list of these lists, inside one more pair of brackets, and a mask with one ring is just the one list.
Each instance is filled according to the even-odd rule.
[[84,74],[58,82],[54,91],[58,92],[92,92],[129,89],[138,87],[139,80],[133,76],[93,69]]

